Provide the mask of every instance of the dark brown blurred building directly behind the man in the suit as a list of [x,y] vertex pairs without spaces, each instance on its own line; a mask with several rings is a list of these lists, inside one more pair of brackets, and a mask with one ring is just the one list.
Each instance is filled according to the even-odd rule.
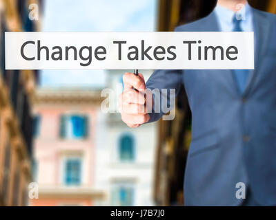
[[[275,0],[248,0],[259,10],[276,13]],[[159,31],[173,31],[177,25],[206,17],[217,0],[159,0]],[[154,197],[157,205],[184,204],[184,171],[191,140],[191,113],[184,87],[177,99],[176,117],[159,120]]]

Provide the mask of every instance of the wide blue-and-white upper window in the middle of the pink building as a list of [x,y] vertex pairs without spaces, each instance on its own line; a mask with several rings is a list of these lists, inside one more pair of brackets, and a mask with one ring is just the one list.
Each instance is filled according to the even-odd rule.
[[88,135],[86,115],[61,115],[59,136],[68,139],[83,139]]

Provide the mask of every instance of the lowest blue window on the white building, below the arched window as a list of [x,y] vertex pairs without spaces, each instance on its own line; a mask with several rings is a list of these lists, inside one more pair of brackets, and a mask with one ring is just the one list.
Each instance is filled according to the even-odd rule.
[[112,206],[134,206],[134,188],[132,184],[116,184],[111,192]]

